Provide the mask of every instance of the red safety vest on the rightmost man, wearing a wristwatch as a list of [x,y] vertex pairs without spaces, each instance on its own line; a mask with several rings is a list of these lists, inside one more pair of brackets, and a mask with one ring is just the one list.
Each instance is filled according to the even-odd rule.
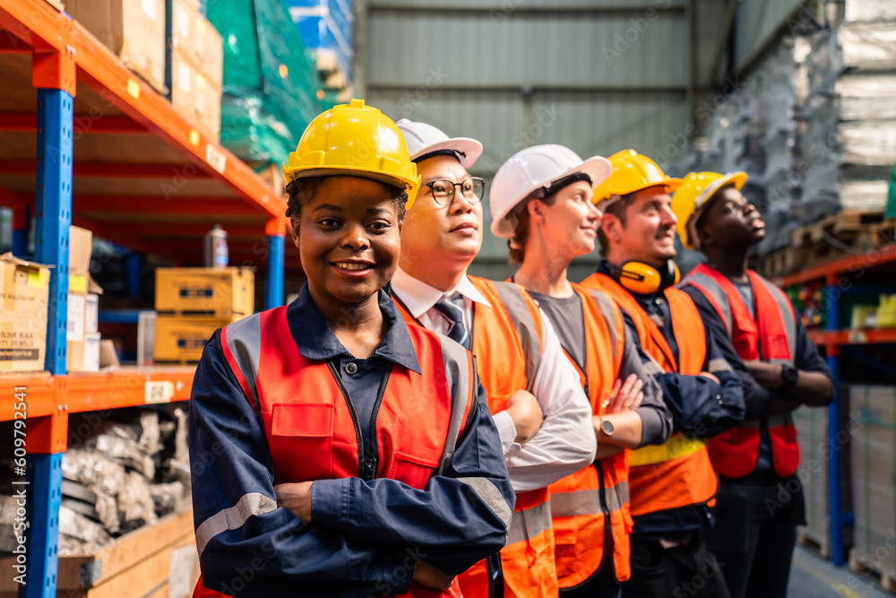
[[[793,366],[797,353],[797,318],[793,306],[778,287],[759,274],[747,270],[747,276],[753,288],[755,318],[734,284],[708,265],[698,265],[682,284],[690,284],[709,299],[742,360]],[[763,419],[771,438],[771,463],[780,477],[787,478],[799,467],[793,419],[789,412]],[[761,427],[762,420],[745,420],[737,428],[710,439],[710,455],[719,475],[743,478],[754,472],[759,461]]]

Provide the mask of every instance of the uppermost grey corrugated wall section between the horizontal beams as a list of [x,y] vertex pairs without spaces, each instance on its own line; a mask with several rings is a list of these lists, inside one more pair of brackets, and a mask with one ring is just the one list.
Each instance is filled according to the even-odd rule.
[[371,11],[368,85],[415,83],[444,74],[449,85],[685,85],[685,15],[513,14]]

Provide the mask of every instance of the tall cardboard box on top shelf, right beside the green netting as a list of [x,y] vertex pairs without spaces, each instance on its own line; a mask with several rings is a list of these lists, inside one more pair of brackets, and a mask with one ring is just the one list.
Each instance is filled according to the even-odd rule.
[[167,0],[166,15],[165,80],[171,104],[218,139],[224,72],[221,37],[191,0]]

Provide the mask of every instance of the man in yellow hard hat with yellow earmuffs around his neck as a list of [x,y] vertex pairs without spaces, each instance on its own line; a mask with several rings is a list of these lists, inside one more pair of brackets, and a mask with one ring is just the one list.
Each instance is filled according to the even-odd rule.
[[[681,181],[633,150],[609,158],[610,176],[594,190],[604,212],[597,273],[582,286],[602,290],[663,374],[673,435],[630,455],[632,577],[624,598],[728,596],[707,548],[716,475],[703,438],[736,425],[744,402],[733,374],[694,302],[676,290],[676,217],[669,195]],[[702,583],[692,585],[693,580]]]

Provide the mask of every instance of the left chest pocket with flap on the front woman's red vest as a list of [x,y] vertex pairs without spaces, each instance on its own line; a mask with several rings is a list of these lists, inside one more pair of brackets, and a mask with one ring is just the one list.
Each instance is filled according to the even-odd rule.
[[263,413],[274,483],[332,478],[334,412],[332,403],[275,403]]

